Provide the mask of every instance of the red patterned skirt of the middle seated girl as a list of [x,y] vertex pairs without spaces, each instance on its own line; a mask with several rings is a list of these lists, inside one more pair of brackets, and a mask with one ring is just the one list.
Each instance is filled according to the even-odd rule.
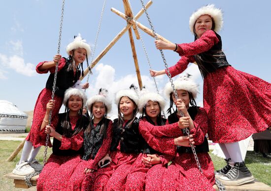
[[98,169],[94,175],[94,185],[91,189],[86,181],[93,179],[88,177],[84,179],[84,190],[86,188],[93,191],[122,191],[126,183],[126,178],[130,172],[132,164],[135,162],[138,154],[122,153],[119,150],[110,154],[112,159],[111,164],[108,167]]

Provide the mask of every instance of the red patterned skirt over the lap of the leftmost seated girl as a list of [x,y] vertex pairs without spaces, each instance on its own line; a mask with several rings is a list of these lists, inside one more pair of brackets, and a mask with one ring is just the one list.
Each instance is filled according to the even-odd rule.
[[80,156],[51,155],[37,179],[37,191],[69,191],[69,178],[80,162]]

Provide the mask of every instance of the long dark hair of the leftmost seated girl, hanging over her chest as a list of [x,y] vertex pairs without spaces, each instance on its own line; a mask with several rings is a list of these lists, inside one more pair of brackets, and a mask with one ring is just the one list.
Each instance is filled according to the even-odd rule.
[[83,99],[82,99],[82,107],[80,108],[80,110],[78,112],[79,119],[78,119],[78,121],[76,123],[77,128],[75,128],[74,132],[72,133],[70,119],[69,119],[69,116],[68,116],[68,114],[69,114],[68,100],[67,100],[67,103],[66,103],[66,106],[65,106],[66,116],[60,123],[61,123],[61,126],[63,127],[63,135],[65,135],[67,137],[71,137],[71,136],[77,134],[78,132],[80,132],[81,130],[84,129],[84,121],[83,121],[83,117],[82,117],[84,102],[83,102]]

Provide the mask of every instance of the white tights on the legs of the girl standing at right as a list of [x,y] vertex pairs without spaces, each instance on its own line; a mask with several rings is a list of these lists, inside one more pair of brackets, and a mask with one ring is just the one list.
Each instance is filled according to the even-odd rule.
[[231,158],[233,162],[242,162],[241,150],[238,142],[234,143],[219,143],[226,159]]

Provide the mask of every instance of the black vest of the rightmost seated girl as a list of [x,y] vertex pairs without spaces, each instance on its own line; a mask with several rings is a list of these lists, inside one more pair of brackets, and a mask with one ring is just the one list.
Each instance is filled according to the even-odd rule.
[[[196,115],[198,114],[198,110],[197,107],[189,107],[188,108],[188,113],[191,117],[192,120],[195,120]],[[177,116],[177,113],[174,112],[171,115],[169,115],[169,124],[173,124],[179,121],[179,118]],[[184,132],[184,135],[186,135],[186,133]],[[209,152],[209,145],[208,145],[208,140],[206,138],[206,136],[204,137],[204,141],[201,145],[194,145],[196,153],[205,153],[205,152]],[[190,147],[183,147],[183,146],[177,146],[177,152],[179,154],[181,153],[193,153],[192,149]]]

